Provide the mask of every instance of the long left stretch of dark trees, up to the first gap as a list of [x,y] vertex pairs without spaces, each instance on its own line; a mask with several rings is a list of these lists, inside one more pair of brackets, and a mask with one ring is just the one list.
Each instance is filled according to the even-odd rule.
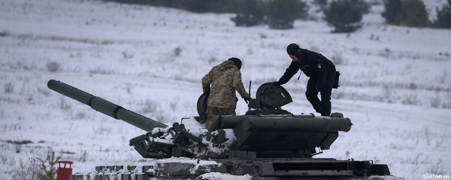
[[236,26],[268,24],[273,29],[293,28],[296,19],[307,18],[309,6],[304,0],[111,0],[146,4],[195,13],[235,13]]

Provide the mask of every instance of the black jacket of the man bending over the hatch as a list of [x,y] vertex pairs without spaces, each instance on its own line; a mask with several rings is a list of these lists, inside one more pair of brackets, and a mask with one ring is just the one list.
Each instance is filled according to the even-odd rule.
[[308,49],[301,49],[301,52],[302,57],[298,57],[299,62],[292,61],[290,66],[286,68],[283,76],[279,79],[279,82],[285,84],[301,69],[305,76],[316,77],[318,79],[316,85],[324,85],[327,73],[331,72],[335,67],[334,63],[317,52]]

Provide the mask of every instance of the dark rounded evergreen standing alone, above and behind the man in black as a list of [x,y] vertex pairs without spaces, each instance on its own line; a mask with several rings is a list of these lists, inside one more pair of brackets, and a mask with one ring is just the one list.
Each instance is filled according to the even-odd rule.
[[334,32],[352,32],[362,26],[363,14],[369,9],[370,5],[364,0],[332,0],[323,9],[324,20],[335,27]]

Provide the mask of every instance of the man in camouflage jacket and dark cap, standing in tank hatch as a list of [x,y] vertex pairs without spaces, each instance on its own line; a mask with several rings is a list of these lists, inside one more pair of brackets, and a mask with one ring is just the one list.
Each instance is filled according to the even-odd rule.
[[[244,89],[241,82],[241,60],[229,58],[229,60],[215,66],[202,78],[203,93],[209,93],[207,103],[207,120],[205,125],[211,132],[217,129],[217,122],[212,121],[211,116],[235,116],[236,102],[235,90],[246,103],[250,95]],[[212,87],[210,88],[210,84]]]

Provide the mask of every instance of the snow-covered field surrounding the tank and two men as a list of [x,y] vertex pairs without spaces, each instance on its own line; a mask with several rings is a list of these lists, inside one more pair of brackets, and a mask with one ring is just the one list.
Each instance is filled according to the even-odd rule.
[[[425,0],[431,18],[445,1]],[[170,125],[197,114],[200,80],[212,66],[242,59],[244,86],[252,80],[254,94],[288,67],[290,43],[335,62],[341,87],[332,91],[332,112],[354,123],[315,157],[378,160],[405,180],[451,175],[451,30],[389,26],[382,11],[373,5],[361,29],[342,34],[320,20],[271,30],[235,27],[234,14],[0,0],[0,180],[12,179],[19,159],[51,151],[74,161],[74,172],[142,159],[128,144],[143,130],[49,90],[50,79]],[[314,112],[304,95],[308,78],[295,76],[284,85],[295,102],[283,108]],[[237,114],[246,110],[240,99]]]

